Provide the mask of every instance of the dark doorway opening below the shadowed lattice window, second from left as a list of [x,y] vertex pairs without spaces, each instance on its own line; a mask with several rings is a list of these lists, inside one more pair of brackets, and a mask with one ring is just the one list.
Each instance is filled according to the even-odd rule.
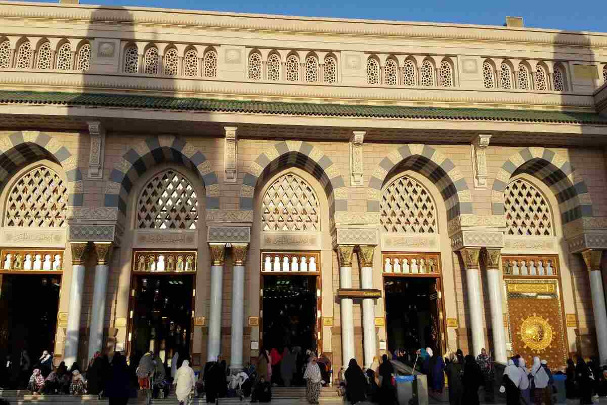
[[189,353],[192,328],[191,275],[136,276],[131,358],[138,364],[148,351],[170,366],[175,351]]

